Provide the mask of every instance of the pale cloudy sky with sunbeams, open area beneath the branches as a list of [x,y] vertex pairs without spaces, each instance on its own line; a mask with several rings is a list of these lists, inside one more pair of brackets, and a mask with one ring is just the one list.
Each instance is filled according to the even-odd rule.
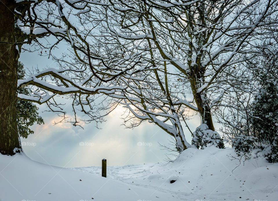
[[[59,56],[66,51],[67,47],[61,46],[52,53]],[[19,60],[26,69],[58,68],[51,58],[40,56],[40,51],[21,53]],[[84,124],[84,129],[69,123],[54,125],[59,117],[55,113],[42,112],[45,109],[45,105],[39,106],[39,115],[43,117],[45,124],[35,124],[31,128],[34,134],[21,139],[23,151],[35,161],[60,167],[85,167],[100,166],[103,158],[107,159],[107,165],[167,160],[165,154],[169,154],[169,151],[160,145],[168,146],[170,141],[173,142],[172,137],[148,122],[135,129],[126,129],[121,125],[121,117],[125,112],[122,107],[117,107],[106,117],[107,121],[99,125],[102,129],[97,129],[94,122]],[[200,125],[200,118],[196,116],[187,123],[194,131]],[[186,140],[191,142],[189,131],[186,131]]]

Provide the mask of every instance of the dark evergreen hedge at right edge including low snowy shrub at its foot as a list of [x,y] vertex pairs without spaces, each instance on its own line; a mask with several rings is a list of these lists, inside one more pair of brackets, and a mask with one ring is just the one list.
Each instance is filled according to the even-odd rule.
[[259,75],[259,85],[250,105],[249,131],[233,137],[232,146],[238,156],[266,157],[278,162],[278,84],[268,73]]

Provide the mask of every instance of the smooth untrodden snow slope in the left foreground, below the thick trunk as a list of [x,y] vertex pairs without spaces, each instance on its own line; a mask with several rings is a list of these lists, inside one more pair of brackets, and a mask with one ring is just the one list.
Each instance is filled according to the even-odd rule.
[[111,178],[38,163],[25,155],[0,154],[1,201],[168,201],[172,198],[167,193]]

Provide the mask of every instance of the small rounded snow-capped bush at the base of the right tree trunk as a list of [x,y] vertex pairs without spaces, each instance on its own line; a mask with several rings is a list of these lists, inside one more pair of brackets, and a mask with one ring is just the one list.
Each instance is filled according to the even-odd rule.
[[216,131],[212,131],[206,124],[201,124],[193,132],[192,145],[195,145],[198,149],[204,149],[207,146],[216,146],[218,148],[224,148],[223,139]]

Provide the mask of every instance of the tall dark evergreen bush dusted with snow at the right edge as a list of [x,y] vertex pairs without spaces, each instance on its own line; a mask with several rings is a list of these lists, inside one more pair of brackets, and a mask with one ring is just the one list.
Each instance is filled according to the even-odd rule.
[[255,148],[261,149],[257,155],[277,163],[278,84],[272,76],[261,75],[261,85],[252,104],[251,124],[257,138]]

